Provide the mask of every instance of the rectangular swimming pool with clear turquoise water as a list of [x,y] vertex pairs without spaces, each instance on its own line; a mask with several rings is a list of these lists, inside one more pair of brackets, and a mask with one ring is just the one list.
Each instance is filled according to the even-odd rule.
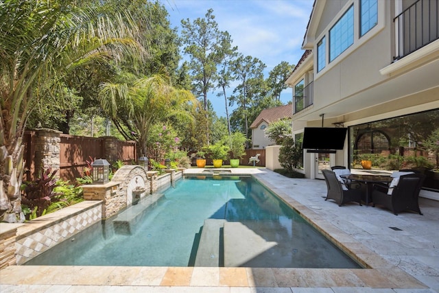
[[[202,237],[212,221],[225,223],[217,239]],[[185,176],[25,264],[195,266],[215,243],[218,266],[360,268],[257,180],[237,176]]]

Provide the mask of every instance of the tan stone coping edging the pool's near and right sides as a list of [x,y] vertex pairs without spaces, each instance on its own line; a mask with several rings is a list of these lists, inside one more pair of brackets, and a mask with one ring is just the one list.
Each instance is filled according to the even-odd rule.
[[[185,174],[200,174],[188,169]],[[96,266],[9,266],[0,270],[1,285],[118,285],[178,287],[264,288],[428,288],[412,275],[327,222],[318,213],[294,200],[270,182],[269,170],[232,169],[233,175],[251,174],[295,209],[312,226],[365,268],[200,268],[200,267],[96,267]],[[273,172],[274,173],[274,172]],[[230,174],[230,173],[228,173]],[[263,176],[261,176],[263,174]],[[99,272],[97,274],[96,272]]]

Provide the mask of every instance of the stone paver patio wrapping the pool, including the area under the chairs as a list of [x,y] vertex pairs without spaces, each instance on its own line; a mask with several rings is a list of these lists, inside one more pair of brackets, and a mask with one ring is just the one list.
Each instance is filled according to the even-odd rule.
[[367,268],[10,266],[0,270],[0,292],[439,292],[438,201],[420,198],[424,215],[338,207],[324,200],[324,180],[231,171],[253,174]]

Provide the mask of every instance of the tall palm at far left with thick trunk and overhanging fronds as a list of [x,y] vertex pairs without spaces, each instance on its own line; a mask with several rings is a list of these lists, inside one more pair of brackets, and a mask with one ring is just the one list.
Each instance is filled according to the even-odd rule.
[[136,47],[132,36],[136,30],[130,28],[128,14],[115,12],[117,6],[110,1],[86,2],[5,0],[0,4],[0,220],[24,220],[19,191],[22,138],[32,108],[60,93],[71,70],[96,58],[117,59],[115,54]]

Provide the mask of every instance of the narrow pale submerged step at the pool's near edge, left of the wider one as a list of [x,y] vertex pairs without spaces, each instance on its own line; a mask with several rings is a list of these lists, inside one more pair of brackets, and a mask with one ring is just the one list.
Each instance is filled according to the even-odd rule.
[[226,220],[207,219],[201,231],[200,244],[195,257],[195,266],[222,266],[222,228]]

